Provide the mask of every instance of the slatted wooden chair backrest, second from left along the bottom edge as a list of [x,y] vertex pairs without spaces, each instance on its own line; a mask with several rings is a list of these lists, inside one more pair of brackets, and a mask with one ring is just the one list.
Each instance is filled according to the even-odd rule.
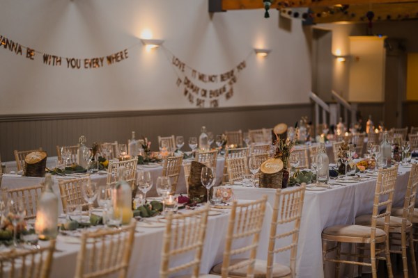
[[77,255],[75,278],[127,276],[137,220],[119,229],[84,232]]

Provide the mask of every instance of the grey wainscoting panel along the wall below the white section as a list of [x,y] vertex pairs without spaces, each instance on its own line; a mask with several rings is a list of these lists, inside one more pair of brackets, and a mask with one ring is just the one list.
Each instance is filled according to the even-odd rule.
[[127,142],[131,131],[147,137],[158,149],[157,136],[199,136],[201,126],[214,134],[226,130],[269,128],[280,122],[293,125],[312,116],[311,104],[203,108],[164,111],[116,111],[42,115],[0,115],[0,154],[13,161],[13,150],[42,147],[56,156],[56,145],[76,145],[80,135],[93,142]]

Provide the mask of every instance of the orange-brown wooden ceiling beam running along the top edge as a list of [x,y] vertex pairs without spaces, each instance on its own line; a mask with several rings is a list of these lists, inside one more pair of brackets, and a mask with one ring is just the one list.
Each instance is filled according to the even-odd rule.
[[[219,0],[209,0],[219,1]],[[222,10],[247,10],[264,8],[263,0],[220,0]],[[370,5],[374,3],[418,3],[415,0],[272,0],[271,9],[315,8],[335,5]]]

